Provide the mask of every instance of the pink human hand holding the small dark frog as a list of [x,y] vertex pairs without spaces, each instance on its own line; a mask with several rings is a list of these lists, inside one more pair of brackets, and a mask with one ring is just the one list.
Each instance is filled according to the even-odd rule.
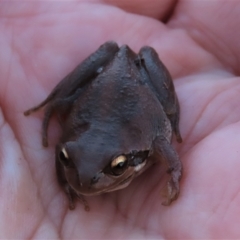
[[[152,16],[149,0],[131,6],[135,14],[116,0],[0,3],[0,238],[239,237],[240,4],[153,2]],[[45,149],[43,112],[23,116],[107,40],[154,47],[174,79],[184,173],[169,207],[157,165],[126,189],[88,198],[90,212],[80,203],[68,210],[54,168],[59,127],[51,123]]]

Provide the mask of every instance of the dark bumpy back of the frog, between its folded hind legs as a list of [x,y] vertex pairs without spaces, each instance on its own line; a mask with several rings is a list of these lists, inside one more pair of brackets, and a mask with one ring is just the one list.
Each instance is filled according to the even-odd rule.
[[167,117],[144,82],[135,64],[136,58],[127,46],[122,46],[114,60],[85,86],[70,113],[70,121],[75,119],[74,128],[86,122],[97,127],[108,124],[114,126],[115,131],[134,127],[148,135],[149,141],[159,129],[168,129]]

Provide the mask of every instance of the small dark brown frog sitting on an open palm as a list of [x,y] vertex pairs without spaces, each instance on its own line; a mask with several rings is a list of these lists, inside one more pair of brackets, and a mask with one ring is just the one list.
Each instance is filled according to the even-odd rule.
[[41,108],[44,147],[53,115],[61,126],[55,167],[70,209],[79,199],[89,210],[85,197],[123,189],[157,163],[169,174],[162,204],[178,198],[182,163],[172,138],[182,142],[180,106],[154,48],[135,53],[128,45],[105,42],[24,115]]

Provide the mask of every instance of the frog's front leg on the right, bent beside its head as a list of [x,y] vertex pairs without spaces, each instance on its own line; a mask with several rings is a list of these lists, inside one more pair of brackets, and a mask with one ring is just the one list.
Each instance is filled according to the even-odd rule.
[[154,140],[154,153],[158,159],[163,159],[168,166],[168,173],[171,175],[168,181],[168,196],[163,205],[169,205],[176,200],[179,195],[179,181],[182,175],[182,163],[171,146],[170,142],[164,136],[158,136]]

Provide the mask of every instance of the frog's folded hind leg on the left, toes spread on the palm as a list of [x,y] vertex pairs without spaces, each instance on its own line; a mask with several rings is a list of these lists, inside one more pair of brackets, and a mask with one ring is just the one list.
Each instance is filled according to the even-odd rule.
[[48,145],[47,128],[53,112],[62,114],[79,96],[81,89],[91,82],[98,74],[99,69],[108,65],[118,52],[119,47],[115,42],[109,41],[101,45],[96,52],[86,58],[71,73],[69,73],[52,90],[50,95],[39,105],[24,112],[25,116],[38,111],[46,105],[45,116],[42,124],[42,144]]

